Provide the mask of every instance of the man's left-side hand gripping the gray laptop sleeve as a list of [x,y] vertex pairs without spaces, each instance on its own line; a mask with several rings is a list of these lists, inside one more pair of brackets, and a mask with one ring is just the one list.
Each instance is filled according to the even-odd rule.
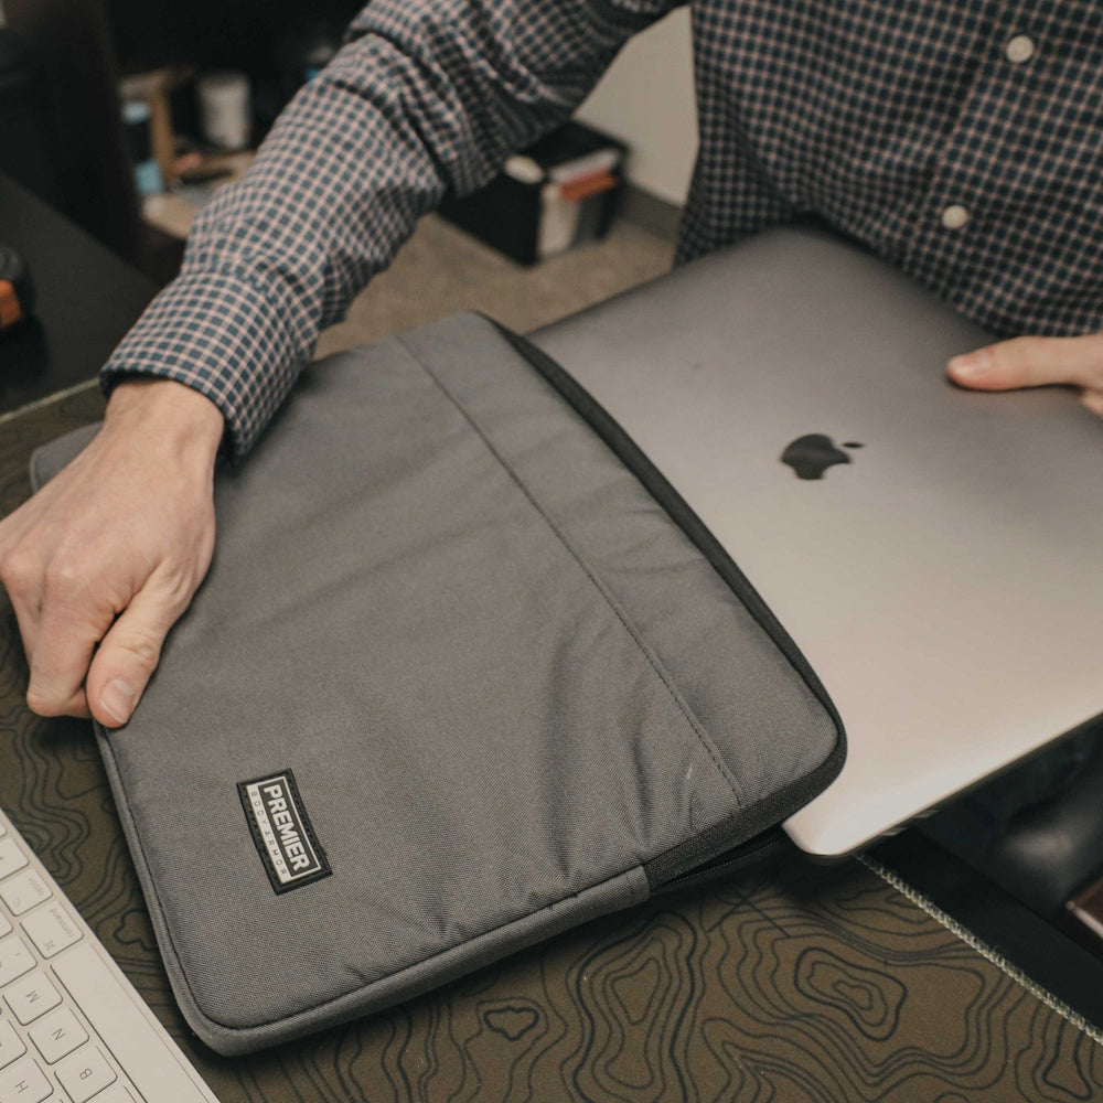
[[125,724],[214,552],[218,408],[179,383],[119,384],[104,427],[0,522],[0,581],[42,716]]

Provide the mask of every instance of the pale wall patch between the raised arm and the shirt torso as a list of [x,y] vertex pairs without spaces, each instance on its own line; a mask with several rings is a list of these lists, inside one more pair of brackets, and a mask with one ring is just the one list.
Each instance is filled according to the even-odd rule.
[[684,203],[697,150],[688,9],[632,39],[577,117],[631,146],[633,184]]

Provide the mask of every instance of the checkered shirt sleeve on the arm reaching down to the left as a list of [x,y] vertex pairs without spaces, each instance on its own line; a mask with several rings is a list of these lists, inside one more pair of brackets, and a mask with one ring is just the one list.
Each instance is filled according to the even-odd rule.
[[682,0],[375,0],[200,214],[180,276],[104,367],[195,387],[246,452],[319,332],[447,191],[565,121]]

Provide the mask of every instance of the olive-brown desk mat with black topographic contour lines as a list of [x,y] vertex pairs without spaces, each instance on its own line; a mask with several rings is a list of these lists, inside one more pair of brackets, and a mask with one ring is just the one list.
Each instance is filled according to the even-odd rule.
[[[94,390],[0,425],[0,507]],[[373,1019],[217,1058],[176,1013],[90,727],[22,702],[0,607],[0,804],[225,1103],[1103,1099],[1103,1048],[858,863],[800,859],[591,923]]]

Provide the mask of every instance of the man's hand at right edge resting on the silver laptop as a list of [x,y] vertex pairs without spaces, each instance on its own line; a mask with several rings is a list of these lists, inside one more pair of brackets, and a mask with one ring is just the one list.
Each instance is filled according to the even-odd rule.
[[1071,384],[1080,388],[1080,400],[1103,417],[1103,333],[1013,338],[955,356],[946,372],[955,383],[977,390]]

